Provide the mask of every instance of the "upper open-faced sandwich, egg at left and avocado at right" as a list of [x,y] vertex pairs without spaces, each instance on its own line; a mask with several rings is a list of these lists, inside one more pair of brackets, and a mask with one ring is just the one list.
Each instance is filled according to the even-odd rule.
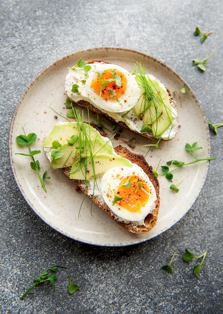
[[178,110],[170,91],[141,63],[135,63],[132,71],[80,58],[66,75],[65,92],[78,105],[146,138],[174,138]]

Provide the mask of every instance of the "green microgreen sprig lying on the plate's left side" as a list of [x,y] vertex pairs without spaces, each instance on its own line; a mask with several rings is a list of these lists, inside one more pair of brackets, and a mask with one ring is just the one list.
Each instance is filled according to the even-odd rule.
[[31,144],[34,143],[37,140],[37,135],[35,133],[29,133],[28,135],[26,135],[24,126],[22,126],[23,132],[24,134],[21,134],[19,136],[16,137],[16,141],[19,145],[27,145],[28,149],[29,149],[29,154],[26,153],[19,153],[16,152],[16,155],[22,155],[22,156],[29,156],[32,159],[32,162],[30,163],[30,167],[36,171],[37,176],[39,178],[39,181],[41,183],[41,186],[44,190],[44,192],[47,192],[46,187],[45,187],[45,180],[50,179],[50,177],[47,177],[47,172],[45,171],[43,174],[43,177],[41,177],[40,175],[40,162],[37,160],[35,160],[34,155],[37,155],[39,153],[41,153],[41,150],[31,150]]

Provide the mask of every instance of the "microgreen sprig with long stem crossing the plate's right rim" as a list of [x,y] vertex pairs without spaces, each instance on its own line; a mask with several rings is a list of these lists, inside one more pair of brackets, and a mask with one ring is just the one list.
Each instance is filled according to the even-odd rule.
[[184,162],[177,161],[177,160],[168,161],[168,162],[166,162],[167,166],[170,166],[170,165],[176,166],[176,168],[174,168],[171,171],[170,171],[169,167],[161,166],[162,173],[163,173],[163,175],[165,175],[165,177],[166,177],[166,179],[168,181],[172,181],[172,179],[173,179],[173,174],[172,173],[174,171],[178,170],[179,168],[183,167],[183,166],[188,166],[188,165],[191,165],[191,164],[194,164],[194,163],[197,163],[197,162],[201,162],[201,161],[211,161],[211,160],[215,160],[216,159],[216,158],[203,158],[203,159],[197,158],[193,154],[193,151],[202,149],[202,147],[197,147],[196,145],[197,145],[197,142],[194,142],[192,145],[190,145],[188,143],[186,143],[186,145],[185,145],[185,149],[190,152],[190,155],[195,159],[194,161],[186,163],[186,164]]

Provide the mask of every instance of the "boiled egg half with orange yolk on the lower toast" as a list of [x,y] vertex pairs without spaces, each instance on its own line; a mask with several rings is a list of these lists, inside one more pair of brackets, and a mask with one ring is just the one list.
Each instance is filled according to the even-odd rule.
[[138,165],[114,167],[104,173],[101,194],[107,206],[120,218],[142,221],[155,208],[155,188]]

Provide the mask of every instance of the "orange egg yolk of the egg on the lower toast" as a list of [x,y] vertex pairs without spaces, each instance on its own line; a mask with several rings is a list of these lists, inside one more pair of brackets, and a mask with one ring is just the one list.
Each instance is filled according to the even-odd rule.
[[[131,186],[125,187],[125,183],[130,180]],[[124,178],[118,187],[117,195],[123,197],[118,203],[130,212],[140,212],[141,208],[148,203],[149,187],[138,176]]]

